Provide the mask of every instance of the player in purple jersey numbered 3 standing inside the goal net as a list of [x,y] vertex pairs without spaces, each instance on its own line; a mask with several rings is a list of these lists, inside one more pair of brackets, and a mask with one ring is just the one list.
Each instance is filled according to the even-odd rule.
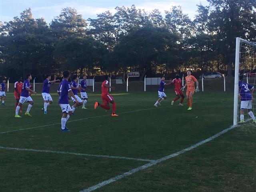
[[254,87],[246,82],[243,82],[243,76],[240,76],[240,81],[238,83],[239,87],[239,97],[241,99],[241,107],[240,107],[240,124],[244,123],[244,110],[247,109],[248,115],[253,120],[253,123],[256,123],[256,119],[252,112],[252,92]]

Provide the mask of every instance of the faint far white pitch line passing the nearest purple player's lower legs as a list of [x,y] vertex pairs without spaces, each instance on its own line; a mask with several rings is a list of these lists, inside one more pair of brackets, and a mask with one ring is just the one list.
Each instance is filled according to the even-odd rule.
[[[164,107],[161,107],[161,108],[166,108],[166,107],[169,107],[169,106],[164,106]],[[154,108],[156,108],[156,107],[154,107]],[[147,109],[139,109],[139,110],[134,110],[134,111],[127,111],[127,112],[122,112],[122,113],[119,113],[119,114],[133,113],[133,112],[139,112],[139,111],[146,111],[146,110],[151,110],[151,109],[154,109],[154,108],[147,108]],[[106,117],[106,116],[110,116],[110,114],[69,120],[67,123],[81,121],[81,120],[86,120],[86,119],[92,119],[92,118]],[[114,117],[114,118],[118,118],[118,117]],[[11,133],[11,132],[16,132],[16,131],[23,131],[23,130],[30,130],[30,129],[36,129],[36,128],[54,126],[54,125],[60,125],[60,122],[53,123],[53,124],[48,124],[48,125],[40,125],[40,126],[35,126],[35,127],[29,127],[29,128],[24,128],[24,129],[16,129],[16,130],[4,131],[4,132],[0,132],[0,134]]]

